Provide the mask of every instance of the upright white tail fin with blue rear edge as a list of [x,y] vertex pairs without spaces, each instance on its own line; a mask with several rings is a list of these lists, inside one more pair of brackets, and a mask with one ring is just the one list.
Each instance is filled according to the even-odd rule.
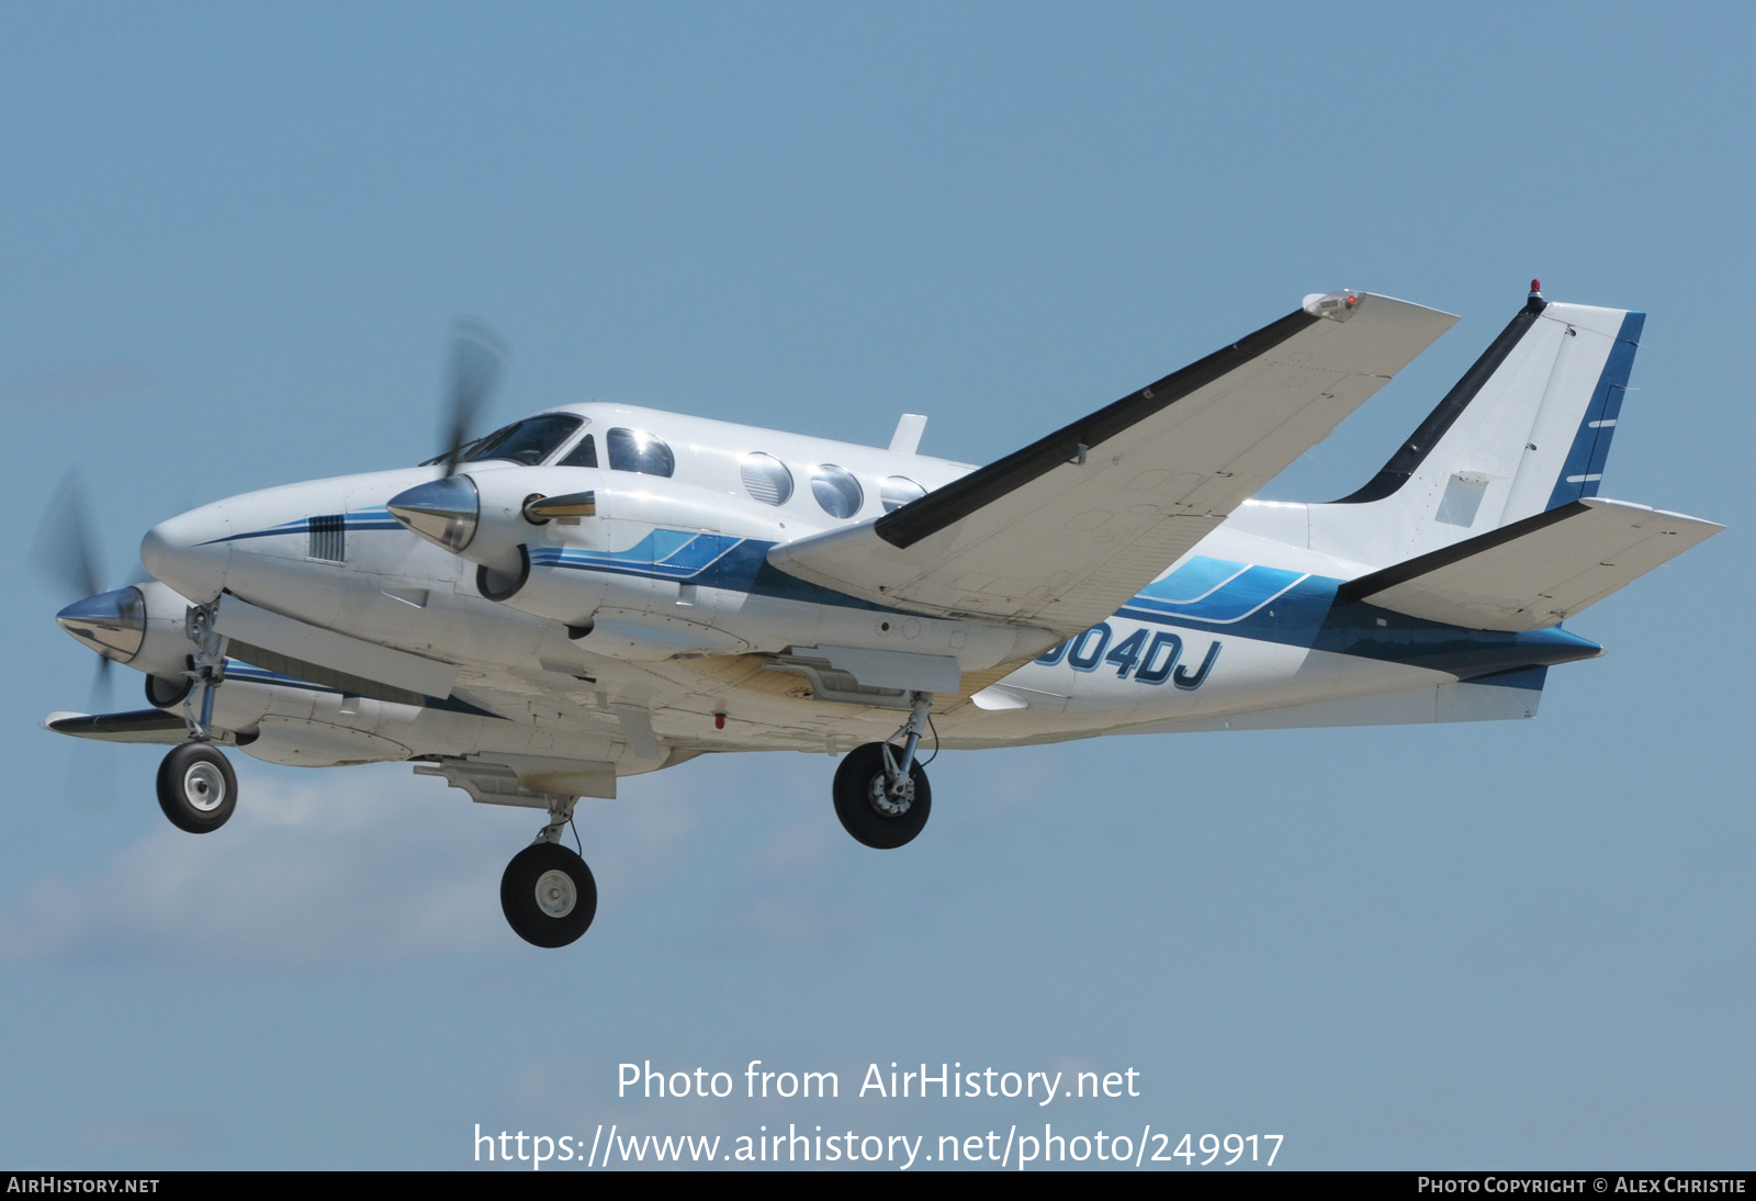
[[1364,488],[1310,506],[1312,546],[1393,564],[1598,495],[1644,321],[1533,288]]

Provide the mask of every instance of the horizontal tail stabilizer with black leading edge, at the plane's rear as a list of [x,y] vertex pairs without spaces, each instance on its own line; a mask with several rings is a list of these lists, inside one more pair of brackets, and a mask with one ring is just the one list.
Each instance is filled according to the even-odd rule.
[[1361,576],[1340,595],[1475,630],[1540,630],[1723,529],[1589,497]]

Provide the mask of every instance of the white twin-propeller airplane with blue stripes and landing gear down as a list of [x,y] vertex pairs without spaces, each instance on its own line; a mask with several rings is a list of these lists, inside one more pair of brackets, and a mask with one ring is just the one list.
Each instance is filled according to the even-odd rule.
[[[163,743],[207,834],[223,748],[400,760],[544,813],[500,904],[537,946],[597,911],[579,797],[704,753],[838,755],[855,839],[932,806],[924,752],[1536,713],[1561,623],[1712,521],[1598,497],[1642,313],[1524,306],[1357,492],[1252,499],[1456,321],[1368,291],[1292,313],[985,467],[622,404],[471,439],[504,348],[453,337],[448,449],[200,506],[151,579],[56,622],[149,708],[61,734]],[[578,836],[576,836],[578,841]]]

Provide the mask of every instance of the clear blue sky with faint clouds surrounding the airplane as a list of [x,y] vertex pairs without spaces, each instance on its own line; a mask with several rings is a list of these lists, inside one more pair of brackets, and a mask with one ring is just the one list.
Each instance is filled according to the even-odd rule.
[[[1011,1101],[646,1103],[616,1064],[1126,1069],[1068,1131],[1336,1168],[1745,1164],[1747,7],[0,7],[0,1162],[471,1162],[474,1124],[973,1134]],[[1728,523],[1570,629],[1535,722],[945,755],[906,852],[825,757],[585,802],[602,904],[504,929],[529,815],[37,729],[91,660],[30,574],[84,472],[153,521],[620,399],[985,462],[1340,286],[1463,320],[1270,495],[1370,476],[1540,276],[1645,309],[1603,495]],[[135,706],[135,676],[116,687]]]

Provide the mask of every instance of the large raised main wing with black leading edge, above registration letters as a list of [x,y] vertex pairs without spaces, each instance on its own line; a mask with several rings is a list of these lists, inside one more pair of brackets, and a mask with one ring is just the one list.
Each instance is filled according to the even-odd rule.
[[1328,437],[1456,320],[1370,293],[1308,297],[920,500],[776,546],[769,564],[901,609],[1078,632]]

